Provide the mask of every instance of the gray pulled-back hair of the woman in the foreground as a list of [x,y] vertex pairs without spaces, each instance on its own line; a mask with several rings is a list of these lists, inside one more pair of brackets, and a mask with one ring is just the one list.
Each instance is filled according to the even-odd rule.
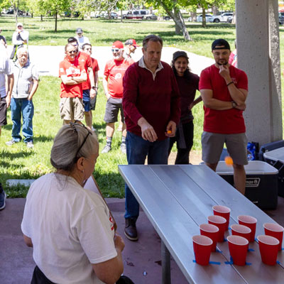
[[54,138],[50,163],[57,170],[71,172],[80,157],[87,158],[98,152],[99,142],[94,132],[80,123],[67,124]]

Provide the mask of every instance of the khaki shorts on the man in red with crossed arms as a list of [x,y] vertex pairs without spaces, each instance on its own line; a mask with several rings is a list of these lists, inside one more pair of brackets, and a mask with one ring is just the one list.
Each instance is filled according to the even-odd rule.
[[84,105],[82,99],[64,97],[60,99],[60,116],[64,120],[83,120]]

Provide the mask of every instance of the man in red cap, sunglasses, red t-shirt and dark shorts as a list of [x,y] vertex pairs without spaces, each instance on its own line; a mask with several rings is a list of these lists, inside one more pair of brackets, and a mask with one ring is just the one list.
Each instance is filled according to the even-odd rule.
[[114,123],[117,121],[119,109],[121,111],[121,121],[123,122],[120,148],[122,153],[126,153],[126,126],[124,123],[124,111],[122,109],[122,80],[126,69],[134,61],[124,58],[124,44],[119,40],[113,43],[111,51],[114,58],[109,60],[104,67],[104,78],[102,80],[104,94],[107,97],[106,112],[104,114],[104,121],[107,122],[107,144],[104,146],[102,153],[111,151]]

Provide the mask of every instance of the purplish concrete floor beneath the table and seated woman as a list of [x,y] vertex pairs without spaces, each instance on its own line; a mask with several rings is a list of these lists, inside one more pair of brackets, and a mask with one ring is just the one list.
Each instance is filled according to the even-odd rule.
[[[35,263],[32,249],[23,242],[21,233],[21,219],[25,199],[9,199],[6,208],[0,211],[0,283],[28,284]],[[109,208],[116,219],[118,234],[125,241],[124,274],[128,275],[136,284],[161,283],[160,238],[146,215],[141,212],[137,222],[139,240],[129,241],[124,236],[124,199],[107,199]],[[278,208],[266,211],[278,224],[284,226],[284,198],[278,197]],[[182,272],[171,263],[171,279],[173,284],[187,283]]]

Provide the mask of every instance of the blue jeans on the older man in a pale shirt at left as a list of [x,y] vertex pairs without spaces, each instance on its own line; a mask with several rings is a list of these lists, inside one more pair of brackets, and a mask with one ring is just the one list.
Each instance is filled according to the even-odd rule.
[[12,138],[14,141],[21,141],[21,116],[23,116],[22,133],[25,139],[23,142],[33,142],[33,101],[28,99],[11,99],[11,118],[13,121]]

